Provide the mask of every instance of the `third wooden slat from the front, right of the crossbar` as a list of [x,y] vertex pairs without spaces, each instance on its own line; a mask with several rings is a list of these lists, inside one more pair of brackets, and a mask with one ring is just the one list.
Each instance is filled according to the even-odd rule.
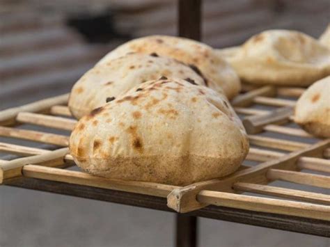
[[301,173],[291,170],[269,169],[267,171],[267,178],[269,180],[283,180],[330,189],[330,177],[324,175]]

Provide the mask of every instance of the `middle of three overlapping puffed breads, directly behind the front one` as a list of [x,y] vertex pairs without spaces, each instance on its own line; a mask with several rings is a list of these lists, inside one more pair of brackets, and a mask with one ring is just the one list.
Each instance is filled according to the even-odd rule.
[[199,85],[204,79],[191,67],[171,58],[146,54],[127,54],[93,67],[74,84],[69,109],[75,118],[81,118],[93,109],[115,99],[144,81],[159,77],[189,78]]

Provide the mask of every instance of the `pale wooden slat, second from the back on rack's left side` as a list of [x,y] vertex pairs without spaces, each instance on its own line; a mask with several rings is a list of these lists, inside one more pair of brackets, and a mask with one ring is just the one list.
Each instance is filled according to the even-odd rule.
[[18,122],[65,130],[72,130],[74,128],[74,125],[77,123],[77,120],[71,120],[68,118],[26,112],[18,113],[16,120]]

